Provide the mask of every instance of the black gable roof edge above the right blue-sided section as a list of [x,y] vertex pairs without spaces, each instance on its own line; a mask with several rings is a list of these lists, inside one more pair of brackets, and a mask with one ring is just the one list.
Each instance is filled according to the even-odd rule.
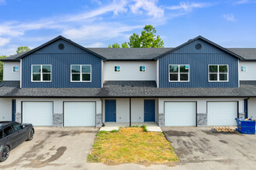
[[221,50],[223,50],[224,52],[229,53],[230,55],[237,57],[238,59],[244,59],[242,56],[239,56],[239,55],[237,55],[236,53],[233,53],[233,52],[231,52],[230,50],[225,49],[225,48],[223,48],[222,46],[220,46],[220,45],[218,45],[218,44],[216,44],[216,43],[214,43],[214,42],[210,41],[209,39],[206,39],[206,38],[204,38],[204,37],[202,37],[202,36],[197,36],[197,37],[195,37],[195,39],[189,39],[188,42],[185,42],[185,43],[183,43],[182,45],[177,46],[176,48],[171,49],[171,50],[169,50],[168,52],[163,53],[163,54],[161,54],[160,56],[155,57],[154,59],[159,59],[159,58],[161,58],[162,56],[165,56],[165,55],[168,54],[168,53],[171,53],[171,52],[173,52],[173,51],[175,51],[175,50],[177,50],[177,49],[180,49],[180,48],[182,48],[183,46],[186,46],[186,45],[189,44],[190,42],[193,42],[193,41],[195,41],[195,40],[197,40],[197,39],[201,39],[201,40],[203,40],[203,41],[205,41],[205,42],[208,42],[208,43],[211,44],[212,46],[215,46],[216,48],[221,49]]

